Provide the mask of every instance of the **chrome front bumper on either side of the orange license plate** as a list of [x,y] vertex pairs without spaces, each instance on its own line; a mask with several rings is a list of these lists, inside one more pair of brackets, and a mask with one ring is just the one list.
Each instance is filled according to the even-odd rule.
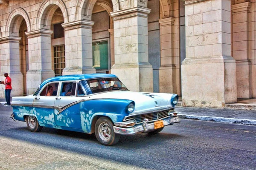
[[[163,119],[163,125],[173,125],[174,123],[179,123],[180,118],[178,116],[171,116],[169,118]],[[143,123],[142,125],[135,125],[134,127],[118,127],[113,126],[114,132],[121,135],[134,135],[138,132],[148,132],[154,129],[154,122]]]

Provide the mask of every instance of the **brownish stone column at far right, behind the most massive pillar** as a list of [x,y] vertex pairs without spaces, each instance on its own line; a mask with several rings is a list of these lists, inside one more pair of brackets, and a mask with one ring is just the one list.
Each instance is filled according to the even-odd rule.
[[[235,0],[235,3],[237,1]],[[252,63],[249,59],[249,9],[252,3],[239,0],[232,5],[233,57],[236,59],[237,98],[251,98]]]

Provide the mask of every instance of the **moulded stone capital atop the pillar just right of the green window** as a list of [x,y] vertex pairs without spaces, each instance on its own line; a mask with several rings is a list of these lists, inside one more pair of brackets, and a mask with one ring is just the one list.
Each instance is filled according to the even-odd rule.
[[150,11],[151,9],[144,8],[141,6],[135,6],[132,8],[114,11],[114,12],[111,12],[110,14],[111,14],[111,17],[113,17],[113,20],[122,20],[125,18],[136,17],[136,16],[147,18]]

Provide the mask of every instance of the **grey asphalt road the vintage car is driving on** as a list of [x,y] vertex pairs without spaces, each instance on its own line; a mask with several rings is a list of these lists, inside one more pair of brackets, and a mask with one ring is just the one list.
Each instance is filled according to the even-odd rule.
[[255,170],[256,126],[182,119],[157,135],[122,136],[114,146],[84,133],[9,118],[0,105],[0,170]]

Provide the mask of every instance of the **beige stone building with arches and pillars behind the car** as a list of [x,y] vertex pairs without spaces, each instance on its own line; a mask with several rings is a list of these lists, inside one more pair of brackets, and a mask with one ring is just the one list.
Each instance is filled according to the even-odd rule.
[[255,2],[0,0],[0,79],[22,96],[49,77],[110,70],[185,106],[255,98]]

